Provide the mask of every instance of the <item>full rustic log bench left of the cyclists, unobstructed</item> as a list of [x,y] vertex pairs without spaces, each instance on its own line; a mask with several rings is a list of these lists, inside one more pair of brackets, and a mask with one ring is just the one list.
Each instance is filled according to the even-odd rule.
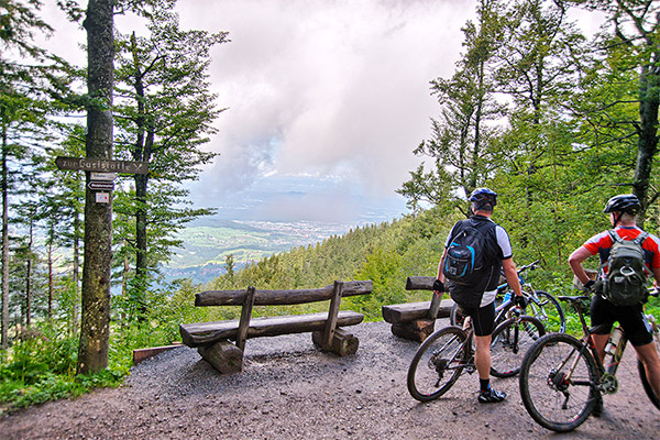
[[[364,315],[339,310],[342,297],[369,295],[372,282],[334,282],[332,286],[297,290],[207,290],[195,296],[195,306],[241,306],[241,318],[179,326],[186,345],[197,351],[220,373],[243,369],[245,340],[311,332],[312,342],[323,351],[344,356],[358,351],[359,341],[341,329],[362,322]],[[293,306],[330,300],[328,312],[252,318],[253,306]],[[229,342],[235,341],[235,344]]]

